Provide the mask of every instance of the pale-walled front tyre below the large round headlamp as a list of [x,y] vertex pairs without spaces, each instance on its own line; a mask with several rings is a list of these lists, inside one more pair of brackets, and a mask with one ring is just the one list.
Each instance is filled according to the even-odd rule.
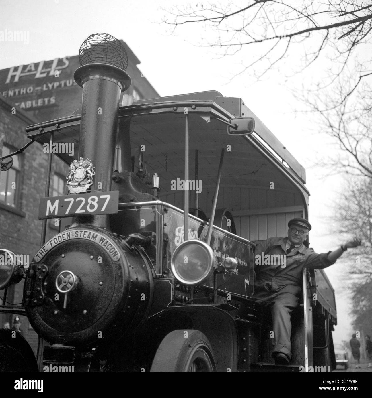
[[156,351],[150,372],[216,372],[208,339],[199,330],[173,330]]

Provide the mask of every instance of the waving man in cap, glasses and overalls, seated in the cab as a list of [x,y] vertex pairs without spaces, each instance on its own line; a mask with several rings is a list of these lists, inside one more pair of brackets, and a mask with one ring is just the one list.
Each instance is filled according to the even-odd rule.
[[[272,357],[276,365],[289,365],[291,359],[291,312],[299,304],[303,268],[329,267],[348,248],[360,245],[360,240],[354,238],[333,252],[317,254],[304,245],[310,230],[309,221],[295,218],[288,222],[287,238],[269,238],[258,244],[255,250],[255,298],[271,308],[274,330]],[[273,264],[258,261],[267,254],[281,261]]]

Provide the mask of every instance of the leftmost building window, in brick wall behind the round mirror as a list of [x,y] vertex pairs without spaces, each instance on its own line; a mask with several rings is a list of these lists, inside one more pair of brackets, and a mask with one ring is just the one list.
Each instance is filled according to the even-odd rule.
[[[10,146],[4,144],[1,156],[4,157],[12,152],[14,152],[14,150]],[[0,173],[0,203],[18,207],[21,157],[20,155],[14,155],[12,157],[14,160],[13,166],[8,171]]]

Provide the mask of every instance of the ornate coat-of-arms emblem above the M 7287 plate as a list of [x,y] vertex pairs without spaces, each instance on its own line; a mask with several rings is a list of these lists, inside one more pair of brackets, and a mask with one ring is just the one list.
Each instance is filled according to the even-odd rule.
[[93,184],[94,172],[93,163],[89,159],[80,158],[74,160],[70,166],[67,178],[67,188],[71,193],[89,192],[89,187]]

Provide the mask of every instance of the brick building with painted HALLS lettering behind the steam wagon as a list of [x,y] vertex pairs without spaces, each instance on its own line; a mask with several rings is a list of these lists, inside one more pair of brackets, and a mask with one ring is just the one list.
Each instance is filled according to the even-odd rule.
[[[134,100],[156,98],[159,94],[141,74],[140,63],[122,42],[128,54],[127,72],[132,86],[125,94]],[[24,146],[25,128],[40,121],[79,114],[82,89],[73,80],[79,57],[63,57],[0,70],[0,156]],[[12,168],[0,172],[0,248],[15,254],[29,255],[30,261],[40,248],[41,225],[37,213],[39,199],[45,194],[48,154],[37,143],[14,157]],[[73,158],[71,158],[72,161]],[[53,157],[50,196],[65,195],[69,167]],[[46,238],[58,233],[54,220],[48,220]],[[0,304],[4,291],[0,291]],[[8,289],[7,302],[22,301],[23,281]],[[20,316],[24,337],[36,353],[37,335],[26,317]],[[0,328],[12,326],[14,316],[0,313]]]

